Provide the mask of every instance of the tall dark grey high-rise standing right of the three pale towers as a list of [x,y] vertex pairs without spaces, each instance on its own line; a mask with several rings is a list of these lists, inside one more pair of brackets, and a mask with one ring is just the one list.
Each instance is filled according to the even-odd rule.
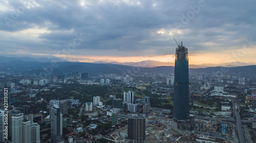
[[57,104],[51,108],[51,142],[62,141],[62,113]]

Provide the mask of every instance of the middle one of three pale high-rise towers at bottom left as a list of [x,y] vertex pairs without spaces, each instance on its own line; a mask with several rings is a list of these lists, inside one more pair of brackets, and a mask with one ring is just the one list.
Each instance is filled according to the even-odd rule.
[[22,122],[22,142],[31,142],[31,121],[30,120],[23,120]]

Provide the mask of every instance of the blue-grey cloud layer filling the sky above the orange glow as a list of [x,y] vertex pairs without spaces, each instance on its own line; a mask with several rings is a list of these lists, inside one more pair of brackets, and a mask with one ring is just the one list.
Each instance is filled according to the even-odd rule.
[[[113,8],[111,2],[118,5]],[[176,47],[172,37],[184,41],[190,52],[196,53],[223,47],[232,49],[242,45],[245,38],[256,39],[254,1],[8,1],[4,4],[12,10],[0,10],[0,32],[5,34],[0,36],[1,49],[26,47],[27,52],[54,54],[80,33],[86,39],[73,54],[87,51],[84,54],[90,55],[88,51],[96,50],[102,55],[100,52],[105,53],[106,49],[124,51],[120,55],[134,51],[132,56],[147,50],[148,54],[171,54],[170,48]],[[13,18],[17,8],[20,11],[23,7],[24,12]],[[200,10],[194,9],[193,18],[187,18],[195,7]],[[182,22],[184,17],[188,22]],[[177,27],[175,22],[182,26]],[[12,35],[33,27],[46,28],[50,33],[26,39]],[[161,29],[164,33],[158,34]]]

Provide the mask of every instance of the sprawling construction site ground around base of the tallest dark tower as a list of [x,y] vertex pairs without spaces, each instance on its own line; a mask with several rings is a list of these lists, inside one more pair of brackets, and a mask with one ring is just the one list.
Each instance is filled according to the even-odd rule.
[[[172,129],[172,119],[146,118],[145,142],[233,142],[234,128],[230,123],[195,119],[182,133]],[[107,138],[127,142],[127,126]]]

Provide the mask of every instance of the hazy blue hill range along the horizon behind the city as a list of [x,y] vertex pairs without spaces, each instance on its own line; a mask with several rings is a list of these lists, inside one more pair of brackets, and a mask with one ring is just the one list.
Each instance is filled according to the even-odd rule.
[[[52,63],[46,62],[25,62],[15,60],[7,63],[0,63],[0,70],[15,71],[29,74],[39,74],[48,68],[51,73],[60,74],[62,72],[88,72],[88,73],[133,73],[148,72],[148,73],[174,73],[173,66],[158,66],[158,67],[136,67],[117,64],[95,64],[95,63],[77,63],[77,62],[58,62],[57,66],[52,68]],[[54,64],[54,65],[55,65]],[[255,73],[256,66],[241,66],[241,67],[208,67],[208,68],[189,68],[190,73]]]

